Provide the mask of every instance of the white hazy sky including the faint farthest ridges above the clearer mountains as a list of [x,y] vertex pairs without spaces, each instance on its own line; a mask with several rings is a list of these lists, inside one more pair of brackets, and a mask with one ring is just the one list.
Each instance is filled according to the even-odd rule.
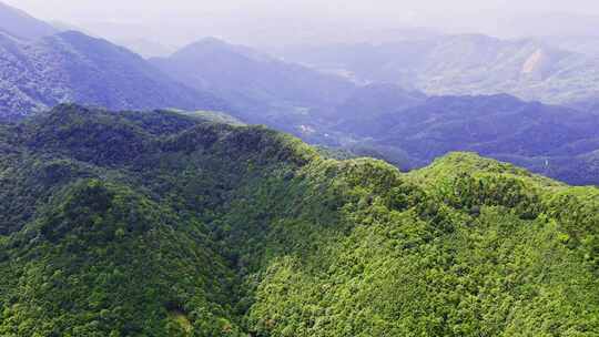
[[[2,0],[0,0],[2,1]],[[595,22],[560,22],[547,13],[599,17],[599,0],[4,0],[45,20],[113,39],[180,45],[205,35],[254,44],[412,27],[491,34],[559,33]],[[527,32],[514,18],[534,24]],[[532,19],[530,19],[532,18]],[[595,20],[595,19],[593,19]],[[588,20],[587,20],[588,21]],[[578,25],[577,25],[578,24]],[[586,24],[586,25],[585,25]],[[570,27],[570,28],[571,28]],[[595,25],[595,30],[599,27]],[[537,32],[539,31],[539,32]]]

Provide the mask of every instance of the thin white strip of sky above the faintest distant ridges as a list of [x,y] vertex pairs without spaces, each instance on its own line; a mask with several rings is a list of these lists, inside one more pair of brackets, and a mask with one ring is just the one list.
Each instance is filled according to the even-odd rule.
[[116,21],[167,16],[247,12],[264,16],[380,14],[406,12],[568,11],[599,14],[597,0],[6,0],[41,18],[61,20],[112,19]]

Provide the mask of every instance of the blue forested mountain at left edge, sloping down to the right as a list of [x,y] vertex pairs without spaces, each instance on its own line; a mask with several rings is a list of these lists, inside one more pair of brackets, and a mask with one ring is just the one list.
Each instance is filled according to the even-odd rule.
[[108,109],[225,110],[141,57],[69,31],[32,42],[0,33],[0,115],[18,118],[64,102]]

